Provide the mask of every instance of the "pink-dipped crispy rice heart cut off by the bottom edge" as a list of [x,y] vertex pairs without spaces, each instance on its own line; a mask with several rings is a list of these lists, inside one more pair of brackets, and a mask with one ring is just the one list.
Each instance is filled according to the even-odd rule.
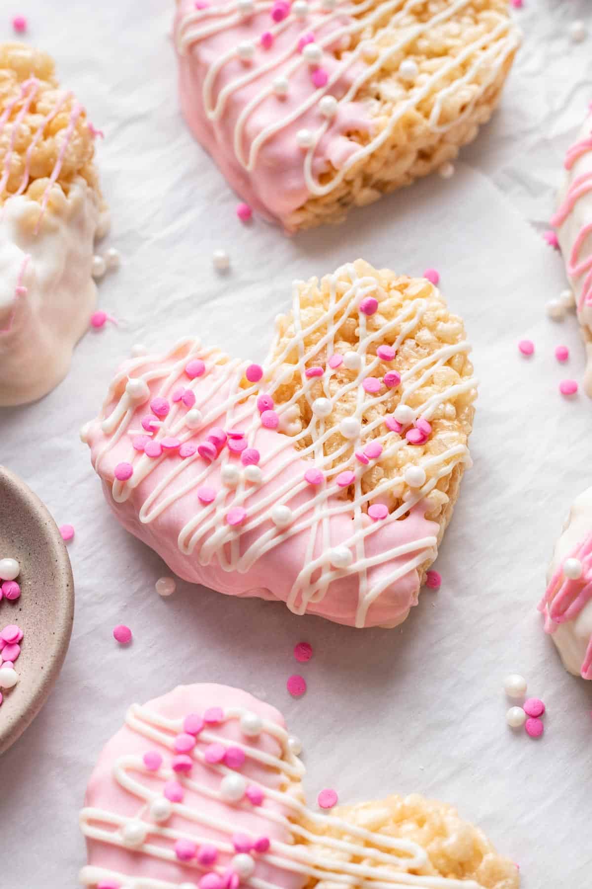
[[237,688],[185,685],[128,710],[80,824],[91,889],[517,889],[515,864],[449,805],[305,804],[300,742]]

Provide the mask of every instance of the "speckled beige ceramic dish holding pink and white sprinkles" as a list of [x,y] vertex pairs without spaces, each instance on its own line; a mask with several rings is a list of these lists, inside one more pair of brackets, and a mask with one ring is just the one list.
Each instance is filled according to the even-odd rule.
[[16,558],[21,595],[0,601],[0,628],[24,632],[15,667],[19,682],[4,690],[0,754],[43,707],[66,657],[74,620],[74,580],[58,526],[27,485],[0,466],[0,558]]

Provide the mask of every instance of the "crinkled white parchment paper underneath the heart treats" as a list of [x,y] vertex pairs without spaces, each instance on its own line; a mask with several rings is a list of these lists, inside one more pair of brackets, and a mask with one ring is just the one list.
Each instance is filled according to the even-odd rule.
[[[592,482],[592,403],[557,391],[564,376],[581,377],[583,349],[573,316],[563,324],[545,316],[564,273],[540,236],[564,149],[592,99],[592,33],[577,46],[567,36],[577,17],[592,31],[587,0],[525,0],[517,12],[525,44],[501,110],[452,180],[432,177],[352,212],[341,228],[292,240],[235,220],[236,197],[185,130],[171,3],[3,0],[0,38],[11,38],[17,12],[28,16],[27,39],[55,56],[62,82],[106,133],[107,244],[123,265],[100,284],[99,304],[127,326],[89,333],[67,380],[42,402],[0,411],[0,460],[76,531],[67,661],[43,712],[0,761],[0,886],[77,885],[85,782],[127,706],[216,680],[283,710],[304,741],[312,800],[322,787],[343,802],[387,791],[441,797],[519,862],[525,889],[586,889],[592,683],[564,672],[535,605],[564,514]],[[233,260],[224,278],[211,266],[218,246]],[[475,467],[438,557],[442,588],[424,590],[391,631],[296,618],[181,582],[161,599],[154,581],[168,571],[115,524],[79,427],[133,343],[167,347],[194,332],[261,358],[292,277],[357,256],[409,274],[438,268],[474,344]],[[517,352],[524,336],[536,344],[531,360]],[[553,357],[561,342],[572,349],[566,368]],[[111,636],[120,622],[134,632],[128,649]],[[291,654],[301,639],[314,647],[302,669]],[[541,741],[505,724],[501,682],[510,671],[547,703]],[[292,672],[309,685],[299,701],[285,687]]]

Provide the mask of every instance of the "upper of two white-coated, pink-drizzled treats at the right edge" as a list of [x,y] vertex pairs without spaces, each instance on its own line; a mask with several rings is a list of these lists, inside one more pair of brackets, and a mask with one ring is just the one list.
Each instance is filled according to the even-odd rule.
[[584,388],[592,396],[592,115],[564,161],[564,183],[551,224],[564,255],[588,366]]

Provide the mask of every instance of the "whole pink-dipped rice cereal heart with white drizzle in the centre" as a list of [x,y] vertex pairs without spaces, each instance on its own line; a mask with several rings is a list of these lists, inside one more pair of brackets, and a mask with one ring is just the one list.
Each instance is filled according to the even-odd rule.
[[277,327],[264,366],[193,337],[125,362],[83,441],[115,516],[185,580],[394,627],[470,463],[462,320],[358,260],[295,282]]

